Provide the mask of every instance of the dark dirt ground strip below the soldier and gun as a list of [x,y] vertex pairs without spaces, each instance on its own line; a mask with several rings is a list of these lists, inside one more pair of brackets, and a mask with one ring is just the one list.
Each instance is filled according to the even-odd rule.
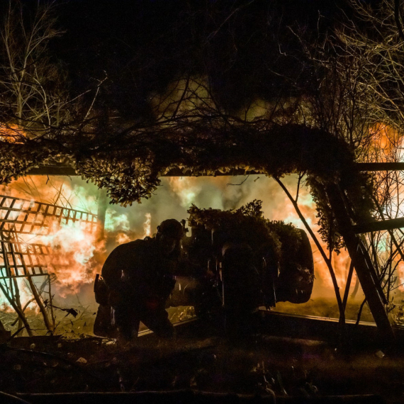
[[[229,340],[189,322],[175,342],[140,337],[132,347],[98,337],[14,338],[0,349],[0,391],[197,391],[277,397],[378,394],[402,403],[403,353],[378,347],[249,335]],[[188,329],[187,329],[188,327]]]

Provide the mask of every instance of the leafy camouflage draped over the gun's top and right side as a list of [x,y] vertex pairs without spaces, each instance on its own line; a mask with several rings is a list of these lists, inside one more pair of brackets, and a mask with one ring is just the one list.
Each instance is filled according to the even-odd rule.
[[[245,242],[254,252],[257,267],[265,257],[269,265],[279,269],[278,300],[303,303],[306,298],[296,295],[295,289],[313,288],[313,256],[304,232],[282,221],[265,219],[262,201],[255,199],[237,210],[200,209],[192,205],[188,210],[189,226],[206,230],[221,230],[227,242]],[[308,258],[307,258],[308,256]],[[307,259],[306,259],[307,258]],[[286,288],[287,286],[287,288]],[[290,289],[290,290],[289,290]],[[303,298],[303,300],[301,300]]]

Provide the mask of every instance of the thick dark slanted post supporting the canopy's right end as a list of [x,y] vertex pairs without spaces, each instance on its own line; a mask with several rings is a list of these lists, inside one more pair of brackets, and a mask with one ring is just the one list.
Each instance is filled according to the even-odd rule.
[[332,211],[335,213],[335,218],[342,237],[344,238],[345,245],[347,246],[349,256],[354,263],[354,268],[357,271],[359,281],[361,282],[362,289],[369,303],[369,308],[374,317],[376,325],[383,341],[391,343],[395,340],[393,328],[388,321],[388,315],[384,308],[381,296],[378,293],[374,279],[371,276],[371,271],[368,265],[371,262],[366,262],[364,254],[359,248],[359,238],[354,233],[352,223],[347,213],[344,201],[342,199],[340,189],[336,185],[327,186],[327,196],[330,201]]

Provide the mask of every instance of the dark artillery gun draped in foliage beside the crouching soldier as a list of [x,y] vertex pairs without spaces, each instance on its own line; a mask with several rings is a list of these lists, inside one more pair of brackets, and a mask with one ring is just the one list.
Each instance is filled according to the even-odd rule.
[[[252,201],[237,211],[191,206],[188,212],[191,234],[187,235],[189,229],[182,220],[181,257],[167,308],[193,306],[198,318],[221,316],[240,323],[261,306],[310,299],[314,263],[304,230],[265,220],[261,201]],[[94,290],[97,288],[101,296],[102,284]],[[101,314],[108,316],[110,309],[101,307],[107,304],[106,299],[97,298],[97,293],[96,301],[101,310],[94,332],[106,335],[99,322]]]

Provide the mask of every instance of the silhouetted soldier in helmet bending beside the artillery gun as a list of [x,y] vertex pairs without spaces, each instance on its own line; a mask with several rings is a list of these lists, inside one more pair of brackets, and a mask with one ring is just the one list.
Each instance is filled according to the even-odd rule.
[[101,275],[108,286],[112,322],[118,328],[119,339],[136,338],[140,321],[158,337],[174,337],[164,307],[174,288],[172,274],[179,260],[182,235],[177,220],[164,220],[157,227],[156,237],[119,245],[106,259]]

